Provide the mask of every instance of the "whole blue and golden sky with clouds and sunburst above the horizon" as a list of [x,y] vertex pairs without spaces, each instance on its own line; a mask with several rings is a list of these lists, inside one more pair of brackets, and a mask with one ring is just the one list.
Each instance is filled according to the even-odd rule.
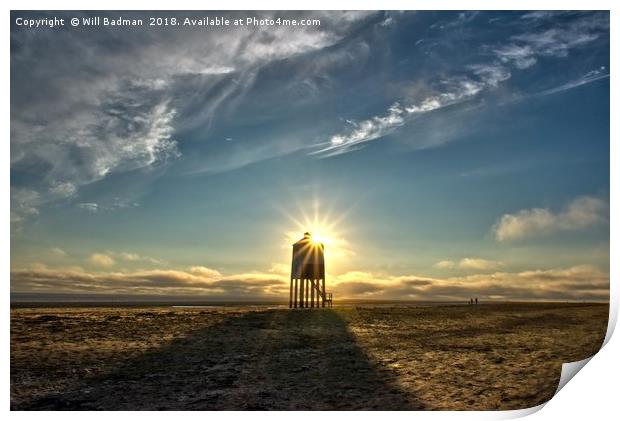
[[607,12],[11,21],[13,293],[608,299]]

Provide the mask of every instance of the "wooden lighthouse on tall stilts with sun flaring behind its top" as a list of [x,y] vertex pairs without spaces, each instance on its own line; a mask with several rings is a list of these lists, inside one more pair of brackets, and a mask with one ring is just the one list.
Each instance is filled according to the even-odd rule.
[[332,306],[332,294],[325,290],[325,248],[312,241],[309,232],[293,244],[290,308]]

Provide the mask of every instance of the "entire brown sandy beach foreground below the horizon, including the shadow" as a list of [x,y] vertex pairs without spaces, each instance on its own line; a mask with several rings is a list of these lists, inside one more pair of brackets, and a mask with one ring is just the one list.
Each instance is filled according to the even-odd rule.
[[12,409],[519,409],[607,304],[11,310]]

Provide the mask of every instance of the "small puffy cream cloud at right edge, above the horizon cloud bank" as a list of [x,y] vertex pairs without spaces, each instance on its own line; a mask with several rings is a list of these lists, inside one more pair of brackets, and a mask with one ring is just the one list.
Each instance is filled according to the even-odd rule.
[[493,231],[497,241],[510,242],[561,231],[577,231],[608,220],[609,205],[599,198],[584,196],[559,212],[533,208],[503,215]]

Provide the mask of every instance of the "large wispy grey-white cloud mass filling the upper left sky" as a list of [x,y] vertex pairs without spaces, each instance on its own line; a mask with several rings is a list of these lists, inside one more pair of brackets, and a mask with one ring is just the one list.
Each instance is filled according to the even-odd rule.
[[38,176],[14,190],[12,221],[85,184],[175,160],[179,127],[208,125],[225,101],[245,95],[261,68],[334,45],[370,13],[319,13],[320,27],[214,29],[209,37],[150,29],[122,40],[107,30],[26,36],[13,28],[11,86],[27,94],[11,96],[11,166]]

